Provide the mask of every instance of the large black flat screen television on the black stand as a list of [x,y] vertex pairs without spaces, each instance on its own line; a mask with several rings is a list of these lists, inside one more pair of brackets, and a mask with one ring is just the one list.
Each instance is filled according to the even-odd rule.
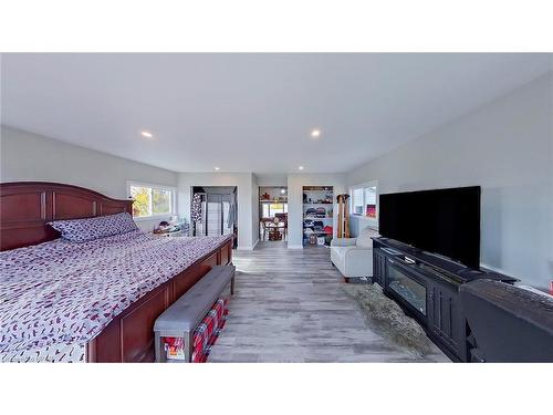
[[480,186],[380,195],[378,231],[480,268]]

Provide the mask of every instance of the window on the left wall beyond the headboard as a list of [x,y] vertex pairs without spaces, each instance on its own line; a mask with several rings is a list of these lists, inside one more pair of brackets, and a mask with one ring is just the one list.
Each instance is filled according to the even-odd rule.
[[169,216],[175,212],[175,189],[171,187],[129,183],[128,196],[134,199],[135,218]]

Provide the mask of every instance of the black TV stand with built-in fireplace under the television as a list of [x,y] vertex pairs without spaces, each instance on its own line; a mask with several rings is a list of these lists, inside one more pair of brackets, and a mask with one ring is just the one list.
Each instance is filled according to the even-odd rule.
[[373,281],[425,329],[451,360],[467,362],[467,322],[459,287],[489,279],[514,283],[514,278],[463,264],[389,238],[373,238]]

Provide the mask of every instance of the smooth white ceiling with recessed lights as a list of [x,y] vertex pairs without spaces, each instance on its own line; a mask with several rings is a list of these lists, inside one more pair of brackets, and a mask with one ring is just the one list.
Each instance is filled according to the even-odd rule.
[[553,63],[498,53],[63,53],[3,54],[1,69],[3,124],[176,172],[267,174],[348,172]]

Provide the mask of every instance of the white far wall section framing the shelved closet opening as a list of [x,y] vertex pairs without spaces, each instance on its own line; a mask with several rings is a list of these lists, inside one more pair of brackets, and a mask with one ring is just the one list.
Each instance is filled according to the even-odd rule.
[[334,186],[334,237],[336,237],[336,195],[347,193],[344,174],[291,174],[288,176],[288,247],[303,247],[303,186]]

